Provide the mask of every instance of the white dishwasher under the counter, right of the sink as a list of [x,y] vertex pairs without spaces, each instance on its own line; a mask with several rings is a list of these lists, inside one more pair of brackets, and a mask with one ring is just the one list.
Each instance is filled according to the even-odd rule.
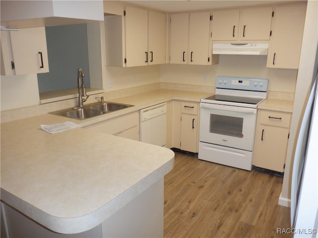
[[140,141],[165,146],[167,124],[166,105],[166,103],[161,103],[140,110]]

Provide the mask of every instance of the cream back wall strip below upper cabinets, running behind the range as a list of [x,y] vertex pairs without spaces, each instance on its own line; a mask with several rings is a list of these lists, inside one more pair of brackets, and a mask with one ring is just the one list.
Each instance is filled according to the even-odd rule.
[[[215,86],[216,76],[237,76],[268,78],[268,90],[295,92],[297,70],[266,68],[267,56],[221,55],[219,64],[161,66],[161,82],[184,83],[190,85]],[[207,82],[203,82],[207,76]]]

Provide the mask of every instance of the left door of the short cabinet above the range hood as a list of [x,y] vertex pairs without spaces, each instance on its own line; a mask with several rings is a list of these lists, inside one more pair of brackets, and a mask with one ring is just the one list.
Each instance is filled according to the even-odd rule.
[[216,10],[212,12],[211,40],[238,40],[239,9]]

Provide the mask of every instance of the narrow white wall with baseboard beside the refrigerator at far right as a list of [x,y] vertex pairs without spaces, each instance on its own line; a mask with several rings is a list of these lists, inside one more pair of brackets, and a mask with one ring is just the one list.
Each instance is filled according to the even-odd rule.
[[282,193],[279,198],[279,203],[281,205],[290,206],[291,179],[295,146],[297,143],[301,119],[303,117],[305,106],[310,94],[315,70],[317,70],[317,65],[315,65],[317,45],[318,1],[309,0],[307,3],[302,51],[300,56],[290,137],[286,155],[285,175],[283,180]]

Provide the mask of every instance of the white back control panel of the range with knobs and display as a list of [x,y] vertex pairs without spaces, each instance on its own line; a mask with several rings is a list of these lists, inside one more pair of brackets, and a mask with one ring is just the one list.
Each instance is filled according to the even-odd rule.
[[241,78],[241,77],[225,77],[217,76],[216,88],[238,89],[248,91],[267,91],[268,79],[266,78]]

